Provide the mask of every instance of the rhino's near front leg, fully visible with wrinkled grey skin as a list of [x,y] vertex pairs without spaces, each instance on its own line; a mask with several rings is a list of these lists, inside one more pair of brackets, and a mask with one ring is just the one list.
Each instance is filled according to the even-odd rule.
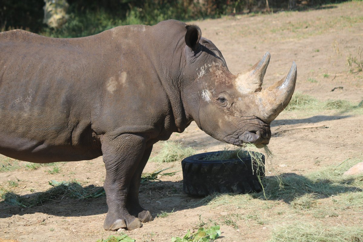
[[145,151],[145,139],[135,134],[122,134],[102,139],[103,162],[106,168],[105,192],[109,207],[103,227],[106,230],[137,229],[140,220],[126,208],[132,177],[138,170]]

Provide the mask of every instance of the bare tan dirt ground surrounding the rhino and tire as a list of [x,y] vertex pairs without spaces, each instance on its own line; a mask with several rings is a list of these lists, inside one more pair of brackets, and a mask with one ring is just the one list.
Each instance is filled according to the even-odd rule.
[[[350,54],[356,56],[359,46],[363,48],[362,12],[363,2],[353,1],[302,12],[227,16],[193,23],[199,25],[202,35],[220,49],[234,74],[253,65],[269,51],[271,60],[263,87],[280,80],[295,61],[298,69],[295,91],[321,101],[344,99],[358,104],[363,99],[363,73],[349,73],[347,57]],[[343,88],[331,91],[334,87]],[[348,158],[363,159],[362,112],[283,111],[271,126],[273,136],[269,148],[275,155],[272,163],[277,173],[304,175],[326,165],[338,165]],[[304,126],[313,128],[301,128]],[[225,146],[200,131],[195,123],[182,134],[173,134],[171,140],[181,142],[184,147],[193,147],[197,152],[216,151]],[[156,144],[152,156],[159,150],[160,144]],[[44,192],[51,187],[48,184],[50,180],[75,179],[84,186],[103,185],[105,169],[102,157],[59,166],[60,172],[53,175],[47,172],[49,167],[31,171],[23,167],[2,172],[0,186],[24,195]],[[168,167],[179,171],[180,161],[167,164],[149,162],[144,172]],[[171,241],[171,236],[182,236],[188,229],[195,229],[201,215],[204,221],[215,221],[221,225],[222,237],[217,241],[266,241],[276,221],[302,219],[301,216],[281,216],[266,210],[261,215],[266,222],[239,221],[236,229],[221,222],[223,216],[235,213],[236,208],[198,203],[201,198],[183,193],[182,179],[181,172],[178,172],[174,176],[160,177],[161,182],[141,187],[140,202],[153,217],[161,211],[171,212],[174,209],[174,212],[165,218],[157,217],[140,229],[127,231],[130,237],[137,242]],[[10,187],[9,180],[19,180],[19,186]],[[256,204],[259,202],[256,199]],[[285,206],[283,201],[267,202],[281,209]],[[103,230],[106,212],[104,196],[83,201],[64,198],[26,209],[0,202],[0,238],[96,241],[115,234],[114,231]],[[340,214],[339,218],[324,217],[319,221],[363,226],[363,212],[349,210]]]

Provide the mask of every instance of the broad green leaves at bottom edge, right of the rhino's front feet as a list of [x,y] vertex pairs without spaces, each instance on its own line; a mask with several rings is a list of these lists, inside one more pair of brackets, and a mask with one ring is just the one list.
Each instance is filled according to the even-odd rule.
[[199,228],[195,233],[188,230],[183,238],[172,237],[171,242],[208,242],[217,239],[221,235],[220,226],[211,226],[209,229]]

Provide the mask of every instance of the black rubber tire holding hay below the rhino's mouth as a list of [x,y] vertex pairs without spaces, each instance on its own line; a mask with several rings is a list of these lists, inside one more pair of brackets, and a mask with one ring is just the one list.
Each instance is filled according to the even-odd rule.
[[[262,190],[259,178],[265,177],[264,165],[252,164],[250,156],[232,160],[203,160],[205,156],[219,152],[200,153],[181,161],[185,193],[207,196],[213,193],[244,194]],[[262,161],[265,164],[264,155]]]

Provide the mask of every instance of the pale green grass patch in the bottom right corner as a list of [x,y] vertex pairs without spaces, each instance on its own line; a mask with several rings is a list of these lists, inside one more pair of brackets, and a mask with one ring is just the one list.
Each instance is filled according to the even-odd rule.
[[269,242],[362,242],[362,226],[326,226],[321,223],[297,222],[274,228]]

